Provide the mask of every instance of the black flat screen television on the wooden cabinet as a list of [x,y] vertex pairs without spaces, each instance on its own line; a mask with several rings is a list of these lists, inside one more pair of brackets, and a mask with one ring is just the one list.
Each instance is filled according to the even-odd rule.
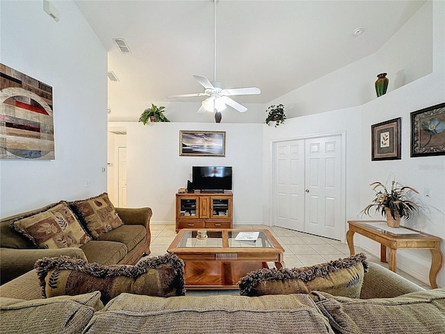
[[232,190],[232,167],[193,166],[192,182],[195,190]]

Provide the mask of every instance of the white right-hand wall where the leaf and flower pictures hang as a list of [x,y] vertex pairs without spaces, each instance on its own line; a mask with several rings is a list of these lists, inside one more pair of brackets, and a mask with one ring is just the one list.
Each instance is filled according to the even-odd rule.
[[[359,159],[364,176],[357,186],[360,189],[360,207],[370,202],[372,192],[368,184],[371,182],[385,182],[389,177],[396,177],[402,184],[414,187],[420,192],[419,199],[425,203],[426,210],[405,225],[445,239],[445,216],[437,211],[445,212],[445,157],[410,157],[410,113],[445,102],[445,3],[434,1],[432,6],[432,73],[362,106],[361,140],[364,148],[371,147],[369,132],[372,124],[402,118],[402,159],[371,161],[369,152],[364,150]],[[401,40],[409,33],[403,31]],[[424,193],[426,188],[430,189],[429,198]],[[376,243],[361,237],[357,239],[362,246],[378,253]],[[445,254],[444,241],[441,250]],[[399,251],[398,267],[428,282],[430,258],[428,250]],[[437,284],[445,286],[445,269],[439,272]]]

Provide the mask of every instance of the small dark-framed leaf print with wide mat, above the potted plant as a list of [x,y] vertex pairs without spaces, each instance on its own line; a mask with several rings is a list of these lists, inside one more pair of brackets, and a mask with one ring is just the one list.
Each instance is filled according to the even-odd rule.
[[401,118],[371,125],[371,160],[401,159]]

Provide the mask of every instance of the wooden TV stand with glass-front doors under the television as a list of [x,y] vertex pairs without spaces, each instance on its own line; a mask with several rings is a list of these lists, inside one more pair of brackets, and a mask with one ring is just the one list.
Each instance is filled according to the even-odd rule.
[[233,228],[233,193],[176,194],[176,232],[182,228]]

